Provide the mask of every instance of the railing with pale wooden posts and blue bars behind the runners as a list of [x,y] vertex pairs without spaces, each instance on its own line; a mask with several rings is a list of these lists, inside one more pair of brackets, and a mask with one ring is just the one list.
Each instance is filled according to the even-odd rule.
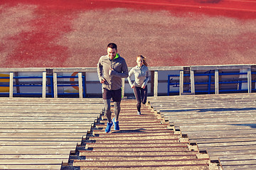
[[[131,69],[131,67],[129,68]],[[158,89],[159,89],[159,83],[163,83],[162,80],[159,80],[159,74],[161,72],[169,72],[169,71],[178,71],[179,74],[176,74],[176,76],[179,77],[178,80],[175,82],[175,86],[179,86],[179,90],[175,91],[179,95],[183,94],[184,92],[190,92],[191,94],[195,94],[197,91],[195,91],[195,86],[196,85],[204,85],[206,84],[208,86],[208,90],[204,91],[205,93],[213,93],[218,94],[219,92],[223,92],[223,89],[220,88],[220,84],[228,84],[228,82],[225,81],[220,81],[219,77],[222,77],[222,73],[219,73],[220,70],[230,70],[230,69],[243,69],[247,70],[247,80],[243,81],[230,81],[229,83],[235,83],[235,84],[242,84],[247,82],[247,89],[248,93],[251,93],[251,91],[255,91],[256,89],[252,89],[252,84],[256,83],[256,65],[252,64],[245,64],[245,65],[220,65],[220,66],[188,66],[188,67],[183,67],[183,66],[174,66],[174,67],[149,67],[149,71],[151,72],[151,94],[153,96],[158,96]],[[206,82],[195,82],[195,76],[200,76],[199,74],[194,74],[194,72],[200,71],[200,70],[213,70],[214,74],[209,72],[208,73],[208,81]],[[254,72],[252,72],[252,70]],[[187,74],[187,72],[190,72],[190,74]],[[10,98],[16,96],[16,95],[37,95],[41,96],[42,98],[47,97],[54,97],[58,98],[60,95],[78,95],[79,98],[85,98],[87,97],[87,89],[86,89],[86,84],[100,84],[99,81],[92,81],[88,80],[85,77],[85,74],[88,72],[95,72],[97,73],[97,68],[95,67],[85,67],[85,68],[0,68],[0,73],[1,72],[9,72],[9,77],[0,77],[1,79],[8,79],[9,81],[4,81],[0,84],[0,87],[9,87],[9,93],[5,93],[6,95],[9,95]],[[18,76],[17,73],[20,72],[36,72],[37,74],[40,73],[37,76]],[[62,76],[59,75],[58,73],[65,73],[65,72],[72,72],[76,74],[72,74],[70,77]],[[33,75],[33,74],[32,74]],[[204,74],[205,75],[205,74]],[[214,82],[213,80],[213,75],[214,75]],[[190,78],[190,82],[188,81],[184,82],[184,77]],[[60,79],[73,79],[73,81],[69,80],[68,82],[62,81]],[[37,84],[19,84],[18,79],[37,79]],[[40,81],[39,81],[40,80]],[[168,93],[167,95],[170,95],[172,93],[169,89],[171,84],[170,82],[170,77],[168,77],[168,82],[167,80],[164,81],[164,83],[168,84]],[[122,84],[124,86],[125,81],[122,79]],[[212,90],[212,85],[215,85],[214,91]],[[186,86],[186,89],[184,90],[184,85]],[[14,88],[18,89],[20,87],[33,87],[33,86],[38,86],[41,87],[41,93],[20,93],[17,91],[17,93],[14,94]],[[58,87],[60,86],[73,86],[76,87],[75,89],[78,89],[78,93],[61,93],[58,91]],[[190,87],[190,91],[188,91],[187,86]],[[255,88],[255,87],[254,87]],[[48,93],[46,94],[46,89],[48,89]],[[101,91],[101,90],[100,90]],[[228,91],[228,90],[225,90]],[[243,89],[239,89],[237,91],[243,91]],[[124,96],[124,90],[122,91],[122,96]],[[1,92],[0,94],[4,94]]]

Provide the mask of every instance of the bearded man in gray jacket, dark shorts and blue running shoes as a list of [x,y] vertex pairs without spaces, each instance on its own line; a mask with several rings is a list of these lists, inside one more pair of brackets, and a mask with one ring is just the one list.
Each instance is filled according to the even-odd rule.
[[[107,115],[107,128],[105,132],[110,132],[114,124],[114,130],[119,130],[120,103],[122,100],[122,78],[128,77],[127,63],[124,58],[117,53],[117,45],[110,43],[107,45],[107,55],[100,57],[97,64],[97,74],[102,84],[102,98]],[[114,101],[114,118],[111,119],[110,99]]]

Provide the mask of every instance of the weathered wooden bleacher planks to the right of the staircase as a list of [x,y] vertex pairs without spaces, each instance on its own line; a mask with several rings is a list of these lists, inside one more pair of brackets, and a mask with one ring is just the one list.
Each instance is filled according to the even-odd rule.
[[223,169],[255,169],[256,94],[159,96],[149,102]]

